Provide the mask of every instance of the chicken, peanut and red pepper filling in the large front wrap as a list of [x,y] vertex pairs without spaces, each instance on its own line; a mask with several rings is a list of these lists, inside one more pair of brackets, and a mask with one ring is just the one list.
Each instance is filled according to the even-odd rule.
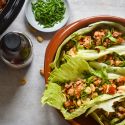
[[94,99],[101,94],[115,94],[125,92],[125,77],[104,81],[99,77],[91,76],[65,83],[62,92],[66,98],[64,107],[68,112],[73,112],[82,104]]

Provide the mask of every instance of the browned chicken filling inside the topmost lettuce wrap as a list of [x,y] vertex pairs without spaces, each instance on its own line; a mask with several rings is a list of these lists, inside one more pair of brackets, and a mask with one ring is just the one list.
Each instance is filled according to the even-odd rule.
[[122,32],[112,28],[99,29],[86,35],[79,35],[72,38],[67,44],[66,49],[72,47],[84,48],[84,49],[96,49],[97,46],[103,46],[109,48],[113,45],[119,45],[125,42],[125,38]]

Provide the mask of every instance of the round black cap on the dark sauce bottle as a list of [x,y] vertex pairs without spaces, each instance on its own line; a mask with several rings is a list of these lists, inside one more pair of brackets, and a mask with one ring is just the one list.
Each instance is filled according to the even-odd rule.
[[17,51],[21,45],[21,38],[17,33],[10,32],[3,36],[1,44],[3,49]]

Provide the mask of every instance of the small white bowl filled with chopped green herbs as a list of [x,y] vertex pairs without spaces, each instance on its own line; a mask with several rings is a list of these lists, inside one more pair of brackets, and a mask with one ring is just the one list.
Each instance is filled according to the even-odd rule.
[[54,32],[62,28],[69,18],[67,0],[29,0],[26,18],[31,26],[42,32]]

